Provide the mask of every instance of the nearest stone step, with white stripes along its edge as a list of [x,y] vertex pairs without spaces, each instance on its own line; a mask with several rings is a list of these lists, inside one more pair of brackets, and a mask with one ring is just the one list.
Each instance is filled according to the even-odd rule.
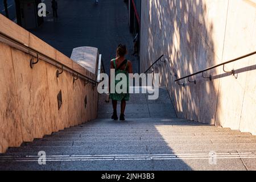
[[[229,156],[229,155],[227,155]],[[120,156],[117,156],[118,158],[121,158]],[[39,166],[38,160],[33,159],[33,161],[26,161],[26,162],[1,162],[0,170],[46,170],[46,171],[53,171],[53,170],[64,170],[64,171],[134,171],[134,169],[138,171],[192,171],[192,170],[245,170],[248,169],[248,167],[245,167],[246,158],[232,158],[229,157],[228,159],[221,159],[218,158],[216,160],[216,165],[210,165],[209,164],[209,156],[205,155],[205,157],[187,157],[187,156],[170,156],[166,159],[163,159],[162,156],[160,156],[160,159],[151,160],[149,158],[138,158],[130,157],[130,156],[123,156],[123,160],[117,160],[115,159],[115,156],[112,156],[112,159],[115,160],[109,160],[104,158],[101,158],[98,160],[97,158],[89,158],[89,160],[80,160],[84,159],[83,156],[80,156],[79,158],[75,157],[72,158],[70,156],[60,158],[56,156],[53,158],[53,161],[47,160],[47,165]],[[54,159],[58,159],[58,161],[54,161]],[[85,157],[88,159],[88,157]],[[70,161],[71,159],[75,159],[75,161]],[[91,160],[90,160],[91,159]],[[96,159],[96,160],[93,160]],[[149,160],[148,160],[149,159]],[[252,159],[250,159],[252,160]],[[255,168],[249,167],[250,170],[253,170]]]

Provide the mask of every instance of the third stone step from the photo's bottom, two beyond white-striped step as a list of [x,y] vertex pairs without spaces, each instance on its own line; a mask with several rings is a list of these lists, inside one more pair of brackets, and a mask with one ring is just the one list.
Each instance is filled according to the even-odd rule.
[[224,139],[224,140],[210,140],[210,139],[200,139],[200,140],[155,140],[155,141],[141,141],[141,140],[130,140],[130,141],[97,141],[97,142],[89,142],[89,141],[39,141],[39,142],[31,142],[31,143],[23,143],[23,146],[122,146],[122,145],[164,145],[164,144],[243,144],[243,143],[254,143],[256,144],[256,139]]

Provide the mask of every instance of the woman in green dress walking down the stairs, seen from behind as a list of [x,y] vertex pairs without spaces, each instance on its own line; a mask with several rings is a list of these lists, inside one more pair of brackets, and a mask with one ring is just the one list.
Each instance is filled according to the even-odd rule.
[[[125,74],[127,78],[127,85],[123,85],[127,87],[126,93],[117,93],[117,90],[115,90],[114,93],[110,93],[110,99],[112,99],[112,105],[114,110],[112,119],[114,119],[115,121],[118,120],[117,101],[121,101],[121,115],[119,119],[120,121],[125,121],[126,101],[129,101],[129,98],[130,98],[129,73],[133,73],[133,65],[131,64],[131,61],[125,59],[126,54],[127,54],[126,46],[120,44],[116,52],[117,57],[110,62],[110,69],[115,69],[115,76],[117,76],[119,73],[122,73],[122,74]],[[115,86],[117,86],[117,84],[120,82],[120,80],[115,80],[115,78],[110,77],[109,84],[111,84],[113,81]],[[110,88],[110,85],[109,85],[109,88]]]

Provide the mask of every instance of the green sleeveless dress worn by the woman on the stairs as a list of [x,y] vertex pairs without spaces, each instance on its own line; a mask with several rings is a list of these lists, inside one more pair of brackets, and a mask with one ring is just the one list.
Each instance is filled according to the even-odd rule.
[[[127,72],[127,64],[128,64],[128,61],[125,65],[125,69],[124,70],[121,70],[121,69],[117,69],[117,64],[115,64],[115,60],[114,59],[114,68],[115,68],[115,76],[117,76],[119,73],[123,73],[126,75],[126,79],[127,79],[127,92],[126,93],[116,93],[116,90],[115,90],[115,93],[110,93],[110,99],[112,99],[113,101],[129,101],[130,99],[130,94],[129,94],[129,76],[128,76],[128,72]],[[121,80],[115,80],[115,87],[117,86],[117,84],[120,82]]]

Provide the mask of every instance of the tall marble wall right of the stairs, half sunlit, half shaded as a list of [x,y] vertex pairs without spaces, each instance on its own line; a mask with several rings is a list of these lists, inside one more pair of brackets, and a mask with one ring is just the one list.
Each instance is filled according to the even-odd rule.
[[[255,0],[142,1],[141,71],[162,54],[178,77],[256,51]],[[156,73],[166,85],[180,118],[256,134],[256,56],[191,77],[181,87],[171,64]]]

